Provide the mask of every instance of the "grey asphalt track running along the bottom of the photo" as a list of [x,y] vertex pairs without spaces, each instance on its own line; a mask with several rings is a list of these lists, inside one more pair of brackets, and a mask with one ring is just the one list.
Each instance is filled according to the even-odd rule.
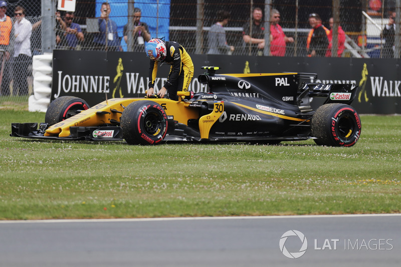
[[7,267],[401,266],[401,214],[0,221],[0,240]]

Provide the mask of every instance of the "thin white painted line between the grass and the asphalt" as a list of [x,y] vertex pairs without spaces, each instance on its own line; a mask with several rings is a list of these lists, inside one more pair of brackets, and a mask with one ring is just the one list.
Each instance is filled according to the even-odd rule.
[[401,216],[389,214],[339,214],[339,215],[282,215],[282,216],[231,216],[231,217],[164,217],[164,218],[125,218],[125,219],[51,219],[51,220],[0,220],[0,223],[66,223],[66,222],[135,222],[135,221],[173,221],[173,220],[236,220],[236,219],[299,219],[299,218],[338,218]]

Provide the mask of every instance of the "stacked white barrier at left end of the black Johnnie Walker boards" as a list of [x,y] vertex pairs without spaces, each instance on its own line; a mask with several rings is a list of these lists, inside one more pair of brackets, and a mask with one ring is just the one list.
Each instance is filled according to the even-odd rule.
[[28,99],[29,111],[46,112],[52,94],[52,60],[53,54],[33,57],[32,74],[34,77],[34,93]]

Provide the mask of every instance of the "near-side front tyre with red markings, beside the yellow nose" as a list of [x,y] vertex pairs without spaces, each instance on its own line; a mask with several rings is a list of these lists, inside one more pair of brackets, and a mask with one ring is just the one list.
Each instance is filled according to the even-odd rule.
[[167,133],[167,115],[153,101],[135,101],[124,109],[120,126],[128,144],[158,145]]

